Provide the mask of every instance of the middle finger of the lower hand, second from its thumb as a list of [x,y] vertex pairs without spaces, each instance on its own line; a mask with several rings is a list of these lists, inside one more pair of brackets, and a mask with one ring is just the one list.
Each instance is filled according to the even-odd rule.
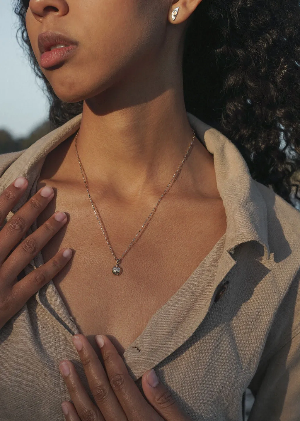
[[124,410],[92,345],[84,335],[73,336],[72,340],[82,361],[89,388],[105,420],[126,421]]

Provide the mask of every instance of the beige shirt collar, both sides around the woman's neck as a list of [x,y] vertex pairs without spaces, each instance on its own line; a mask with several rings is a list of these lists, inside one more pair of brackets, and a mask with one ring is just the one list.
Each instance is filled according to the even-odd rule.
[[[12,209],[13,213],[28,199],[47,154],[79,129],[81,117],[82,114],[77,115],[25,149],[0,178],[0,191],[18,176],[24,176],[29,181],[25,194]],[[237,245],[254,240],[263,245],[269,259],[266,204],[244,158],[220,131],[190,113],[187,117],[197,138],[213,154],[217,187],[226,211],[225,249],[233,253]]]

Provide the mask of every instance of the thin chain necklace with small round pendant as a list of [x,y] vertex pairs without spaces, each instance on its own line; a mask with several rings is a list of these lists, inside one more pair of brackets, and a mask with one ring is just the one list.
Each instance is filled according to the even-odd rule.
[[[80,128],[79,128],[79,130],[80,130]],[[189,149],[191,148],[192,143],[193,143],[193,140],[194,140],[194,138],[195,138],[195,132],[194,132],[194,131],[193,131],[193,129],[192,129],[192,132],[194,133],[194,136],[193,136],[193,139],[192,139],[191,143],[189,144],[189,148],[187,149],[187,153],[184,155],[184,158],[183,158],[183,160],[181,161],[181,163],[180,163],[179,167],[177,168],[177,170],[176,170],[176,172],[175,172],[174,176],[172,177],[172,179],[171,179],[171,181],[169,182],[169,184],[167,185],[167,187],[166,187],[165,191],[163,192],[163,194],[162,194],[162,195],[161,195],[161,197],[159,198],[158,203],[156,203],[156,205],[155,205],[155,206],[154,206],[154,208],[152,209],[152,211],[151,211],[150,215],[148,216],[148,218],[146,219],[146,221],[144,222],[144,224],[141,226],[141,228],[140,228],[139,232],[136,234],[136,236],[134,237],[134,239],[132,240],[132,242],[131,242],[131,243],[129,244],[129,246],[126,248],[126,250],[124,251],[124,253],[122,254],[122,256],[118,259],[118,258],[116,257],[116,254],[115,254],[115,253],[114,253],[114,251],[113,251],[113,248],[112,248],[112,246],[111,246],[110,242],[109,242],[109,241],[108,241],[108,239],[107,239],[107,235],[105,235],[105,232],[104,232],[104,230],[103,230],[103,228],[102,228],[102,226],[101,226],[100,220],[99,220],[99,218],[98,218],[97,212],[96,212],[95,207],[94,207],[94,203],[93,203],[92,197],[91,197],[91,195],[89,194],[89,189],[87,188],[87,183],[86,183],[86,181],[85,181],[84,174],[83,174],[83,171],[82,171],[82,163],[81,163],[81,161],[80,161],[80,159],[79,159],[79,155],[78,155],[78,152],[77,152],[77,136],[78,136],[79,130],[78,130],[78,132],[77,132],[77,134],[76,134],[76,137],[75,137],[75,149],[76,149],[76,155],[77,155],[77,159],[78,159],[78,162],[79,162],[80,170],[81,170],[81,173],[82,173],[82,178],[83,178],[83,181],[84,181],[84,185],[85,185],[85,187],[86,187],[86,189],[87,189],[87,194],[88,194],[88,196],[89,196],[89,200],[90,200],[90,202],[92,203],[92,207],[93,207],[93,209],[94,209],[94,212],[95,212],[95,215],[96,215],[97,221],[99,222],[100,228],[102,229],[102,232],[103,232],[103,235],[104,235],[104,237],[105,237],[105,240],[106,240],[106,242],[107,242],[107,244],[108,244],[108,247],[109,247],[109,249],[111,250],[111,253],[113,254],[114,259],[117,261],[116,266],[113,266],[112,272],[113,272],[113,274],[114,274],[114,275],[121,275],[121,273],[122,273],[122,271],[123,271],[123,269],[122,269],[122,268],[121,268],[121,266],[120,266],[120,262],[121,262],[121,260],[124,258],[125,254],[126,254],[126,253],[128,253],[128,251],[130,250],[130,248],[132,248],[132,245],[133,245],[133,243],[134,243],[134,240],[135,240],[135,239],[136,239],[136,237],[139,235],[139,232],[141,231],[141,229],[145,226],[146,222],[148,221],[148,219],[149,219],[149,218],[150,218],[150,216],[152,215],[153,210],[155,210],[155,208],[158,206],[158,204],[160,203],[161,199],[163,198],[163,195],[166,193],[166,190],[167,190],[167,189],[168,189],[168,187],[170,186],[171,182],[173,181],[174,177],[175,177],[175,176],[176,176],[176,174],[178,173],[179,169],[182,167],[182,165],[183,165],[183,163],[184,163],[184,160],[186,159],[187,154],[189,153]]]

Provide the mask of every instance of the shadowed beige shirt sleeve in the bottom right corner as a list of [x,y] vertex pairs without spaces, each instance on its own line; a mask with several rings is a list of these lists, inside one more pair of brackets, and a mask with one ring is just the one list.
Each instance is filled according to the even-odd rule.
[[300,421],[300,326],[291,336],[248,386],[255,397],[248,421]]

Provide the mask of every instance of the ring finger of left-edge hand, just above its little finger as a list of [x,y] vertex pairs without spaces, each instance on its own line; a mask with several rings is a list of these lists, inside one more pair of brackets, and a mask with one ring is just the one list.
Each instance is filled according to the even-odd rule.
[[1,267],[1,274],[5,282],[10,283],[16,279],[24,267],[39,253],[47,242],[66,224],[68,218],[64,212],[55,212],[42,226],[33,234],[26,237],[24,241],[11,253]]

